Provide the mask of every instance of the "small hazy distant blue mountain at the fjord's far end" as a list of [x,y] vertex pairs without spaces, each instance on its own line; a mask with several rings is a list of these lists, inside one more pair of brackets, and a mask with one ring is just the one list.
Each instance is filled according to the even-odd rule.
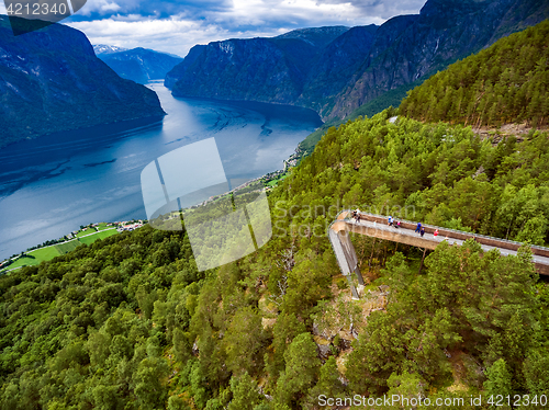
[[120,77],[138,83],[159,80],[166,77],[183,59],[165,53],[142,47],[98,56]]

